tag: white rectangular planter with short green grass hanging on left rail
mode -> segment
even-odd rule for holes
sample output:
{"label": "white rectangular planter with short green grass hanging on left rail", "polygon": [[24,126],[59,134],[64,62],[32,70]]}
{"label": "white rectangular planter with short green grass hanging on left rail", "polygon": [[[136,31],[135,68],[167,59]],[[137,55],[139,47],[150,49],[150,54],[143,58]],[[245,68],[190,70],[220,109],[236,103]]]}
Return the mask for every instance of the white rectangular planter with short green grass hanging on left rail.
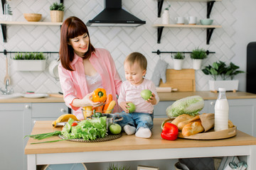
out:
{"label": "white rectangular planter with short green grass hanging on left rail", "polygon": [[42,52],[18,53],[12,60],[17,71],[43,71],[46,69],[46,57]]}

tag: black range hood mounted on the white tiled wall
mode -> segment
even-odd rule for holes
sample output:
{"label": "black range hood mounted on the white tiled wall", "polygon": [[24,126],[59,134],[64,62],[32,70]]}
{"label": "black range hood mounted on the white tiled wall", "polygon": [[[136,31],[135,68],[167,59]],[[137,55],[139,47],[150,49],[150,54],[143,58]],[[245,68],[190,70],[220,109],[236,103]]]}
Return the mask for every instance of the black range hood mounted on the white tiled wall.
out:
{"label": "black range hood mounted on the white tiled wall", "polygon": [[145,24],[131,13],[122,9],[122,0],[105,0],[105,9],[95,18],[87,21],[87,26],[129,26],[137,27]]}

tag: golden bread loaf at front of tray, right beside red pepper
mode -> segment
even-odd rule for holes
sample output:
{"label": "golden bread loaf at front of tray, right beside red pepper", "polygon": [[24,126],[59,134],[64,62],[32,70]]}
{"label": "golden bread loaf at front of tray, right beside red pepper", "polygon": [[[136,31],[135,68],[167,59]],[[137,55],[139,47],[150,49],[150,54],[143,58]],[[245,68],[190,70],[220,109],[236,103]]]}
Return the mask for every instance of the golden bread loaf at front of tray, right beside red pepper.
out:
{"label": "golden bread loaf at front of tray, right beside red pepper", "polygon": [[182,135],[184,137],[188,137],[191,135],[196,135],[199,132],[203,132],[203,126],[201,124],[201,120],[196,120],[191,123],[185,125],[182,129]]}

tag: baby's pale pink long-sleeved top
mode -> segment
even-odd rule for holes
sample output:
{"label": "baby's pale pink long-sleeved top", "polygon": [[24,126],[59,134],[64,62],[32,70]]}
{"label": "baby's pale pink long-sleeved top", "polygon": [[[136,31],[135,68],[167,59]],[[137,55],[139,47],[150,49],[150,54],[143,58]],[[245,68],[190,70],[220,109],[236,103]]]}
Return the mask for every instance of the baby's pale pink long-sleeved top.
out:
{"label": "baby's pale pink long-sleeved top", "polygon": [[122,101],[131,101],[136,106],[136,113],[153,113],[154,106],[151,103],[146,102],[142,96],[141,91],[149,89],[155,94],[156,104],[159,103],[159,96],[156,93],[156,86],[153,81],[144,79],[142,84],[134,86],[129,81],[124,81],[121,86],[118,103]]}

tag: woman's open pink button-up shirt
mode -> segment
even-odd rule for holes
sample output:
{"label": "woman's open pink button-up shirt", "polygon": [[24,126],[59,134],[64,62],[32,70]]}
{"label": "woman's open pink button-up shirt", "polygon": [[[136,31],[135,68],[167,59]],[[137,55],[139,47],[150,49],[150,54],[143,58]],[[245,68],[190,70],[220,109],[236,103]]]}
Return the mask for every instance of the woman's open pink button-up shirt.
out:
{"label": "woman's open pink button-up shirt", "polygon": [[[95,52],[92,52],[89,60],[102,78],[103,89],[106,90],[107,94],[112,94],[113,100],[117,102],[116,94],[119,95],[122,80],[119,77],[110,52],[102,48],[95,48]],[[81,108],[75,108],[70,104],[74,98],[82,99],[92,91],[88,91],[87,88],[82,57],[75,54],[71,67],[75,71],[70,72],[64,69],[61,63],[58,65],[60,85],[63,90],[65,104],[69,108],[73,108],[73,114],[78,119],[83,119]],[[116,112],[119,112],[119,106],[114,107],[114,113]]]}

